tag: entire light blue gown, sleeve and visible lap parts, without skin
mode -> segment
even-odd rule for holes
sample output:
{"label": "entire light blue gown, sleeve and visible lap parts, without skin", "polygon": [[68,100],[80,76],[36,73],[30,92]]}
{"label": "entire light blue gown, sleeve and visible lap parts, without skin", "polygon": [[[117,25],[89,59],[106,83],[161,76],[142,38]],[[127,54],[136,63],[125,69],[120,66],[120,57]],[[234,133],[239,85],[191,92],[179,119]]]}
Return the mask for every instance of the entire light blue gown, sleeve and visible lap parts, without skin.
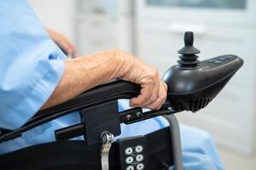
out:
{"label": "entire light blue gown, sleeve and visible lap parts, without skin", "polygon": [[[65,54],[44,30],[25,0],[0,2],[0,127],[16,129],[49,99],[65,68]],[[127,101],[119,101],[119,110]],[[35,127],[21,137],[0,144],[0,153],[55,139],[54,130],[79,122],[79,113]],[[146,134],[166,127],[162,117],[122,125],[121,137]],[[211,137],[194,127],[181,126],[185,169],[223,169]],[[171,167],[172,168],[172,167]]]}

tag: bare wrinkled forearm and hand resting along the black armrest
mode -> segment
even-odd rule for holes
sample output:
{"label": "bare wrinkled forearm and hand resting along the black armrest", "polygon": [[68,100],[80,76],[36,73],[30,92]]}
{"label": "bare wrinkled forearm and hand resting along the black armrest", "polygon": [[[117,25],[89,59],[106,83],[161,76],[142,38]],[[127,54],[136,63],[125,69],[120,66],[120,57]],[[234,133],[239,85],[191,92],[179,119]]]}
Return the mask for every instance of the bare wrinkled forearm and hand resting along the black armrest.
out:
{"label": "bare wrinkled forearm and hand resting along the black armrest", "polygon": [[167,86],[158,71],[132,54],[108,50],[66,61],[66,71],[42,109],[72,99],[115,78],[140,84],[140,94],[130,105],[157,110],[166,101]]}

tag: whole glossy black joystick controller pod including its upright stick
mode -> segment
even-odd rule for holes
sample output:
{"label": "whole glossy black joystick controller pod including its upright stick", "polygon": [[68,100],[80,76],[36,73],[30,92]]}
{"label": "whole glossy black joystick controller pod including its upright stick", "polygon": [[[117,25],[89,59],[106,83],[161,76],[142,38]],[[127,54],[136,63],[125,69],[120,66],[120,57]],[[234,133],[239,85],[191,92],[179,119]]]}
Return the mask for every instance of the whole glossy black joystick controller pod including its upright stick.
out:
{"label": "whole glossy black joystick controller pod including its upright stick", "polygon": [[216,97],[239,70],[242,59],[222,55],[199,61],[200,51],[193,46],[193,32],[184,34],[184,47],[178,50],[178,65],[166,71],[163,80],[168,86],[168,101],[175,111],[199,111]]}

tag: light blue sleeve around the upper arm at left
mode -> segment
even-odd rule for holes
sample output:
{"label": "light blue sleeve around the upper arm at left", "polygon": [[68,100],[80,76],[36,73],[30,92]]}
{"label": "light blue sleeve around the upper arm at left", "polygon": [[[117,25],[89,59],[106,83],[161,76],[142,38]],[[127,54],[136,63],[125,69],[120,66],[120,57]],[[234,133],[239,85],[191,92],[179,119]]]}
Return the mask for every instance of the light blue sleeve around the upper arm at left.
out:
{"label": "light blue sleeve around the upper arm at left", "polygon": [[20,127],[44,105],[65,59],[25,0],[1,0],[0,127]]}

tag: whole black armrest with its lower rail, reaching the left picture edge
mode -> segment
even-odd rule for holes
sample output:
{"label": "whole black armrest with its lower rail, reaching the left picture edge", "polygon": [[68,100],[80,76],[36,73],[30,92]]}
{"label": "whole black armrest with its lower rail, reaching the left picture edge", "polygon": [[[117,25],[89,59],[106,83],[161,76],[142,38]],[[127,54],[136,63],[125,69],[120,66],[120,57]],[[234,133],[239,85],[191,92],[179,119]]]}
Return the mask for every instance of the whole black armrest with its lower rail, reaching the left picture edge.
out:
{"label": "whole black armrest with its lower rail, reaching the left picture edge", "polygon": [[2,133],[3,135],[0,135],[0,143],[9,139],[14,139],[32,127],[37,127],[44,122],[49,122],[55,118],[65,116],[73,111],[80,111],[92,105],[99,105],[117,99],[131,99],[140,94],[140,89],[139,85],[122,80],[102,84],[101,86],[84,92],[84,94],[80,94],[74,99],[62,103],[61,105],[56,105],[44,111],[38,111],[38,113],[32,117],[29,122],[26,122],[23,127],[7,134]]}

